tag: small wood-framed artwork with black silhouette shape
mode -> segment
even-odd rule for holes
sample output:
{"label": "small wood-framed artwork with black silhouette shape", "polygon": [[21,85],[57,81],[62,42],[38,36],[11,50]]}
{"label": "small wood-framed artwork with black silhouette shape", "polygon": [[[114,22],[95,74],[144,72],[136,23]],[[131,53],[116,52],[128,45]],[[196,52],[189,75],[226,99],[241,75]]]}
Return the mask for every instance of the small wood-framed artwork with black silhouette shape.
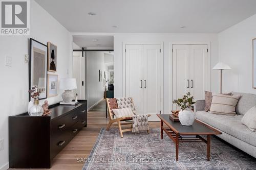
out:
{"label": "small wood-framed artwork with black silhouette shape", "polygon": [[47,43],[48,46],[48,71],[57,71],[57,46],[51,42]]}

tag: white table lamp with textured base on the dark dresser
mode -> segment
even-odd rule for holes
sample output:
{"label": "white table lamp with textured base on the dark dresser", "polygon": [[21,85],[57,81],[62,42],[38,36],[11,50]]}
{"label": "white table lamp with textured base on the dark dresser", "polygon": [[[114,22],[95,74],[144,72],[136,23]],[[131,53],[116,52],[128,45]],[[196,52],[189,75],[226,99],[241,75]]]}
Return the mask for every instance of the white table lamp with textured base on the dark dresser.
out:
{"label": "white table lamp with textured base on the dark dresser", "polygon": [[62,94],[63,102],[60,102],[60,104],[74,104],[72,103],[72,100],[74,99],[75,95],[72,92],[71,89],[76,89],[76,79],[74,78],[65,78],[60,79],[59,81],[59,88],[60,89],[66,89]]}

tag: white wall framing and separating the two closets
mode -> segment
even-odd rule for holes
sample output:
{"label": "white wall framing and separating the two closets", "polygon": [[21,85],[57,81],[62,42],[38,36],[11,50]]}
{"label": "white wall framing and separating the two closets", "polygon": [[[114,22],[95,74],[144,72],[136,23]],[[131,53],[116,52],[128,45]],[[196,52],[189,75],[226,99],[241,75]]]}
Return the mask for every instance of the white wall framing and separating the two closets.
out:
{"label": "white wall framing and separating the two closets", "polygon": [[[123,41],[164,42],[164,113],[172,108],[172,43],[210,43],[211,67],[218,62],[217,34],[114,34],[114,82],[115,97],[123,95]],[[211,90],[218,91],[218,73],[211,71]]]}

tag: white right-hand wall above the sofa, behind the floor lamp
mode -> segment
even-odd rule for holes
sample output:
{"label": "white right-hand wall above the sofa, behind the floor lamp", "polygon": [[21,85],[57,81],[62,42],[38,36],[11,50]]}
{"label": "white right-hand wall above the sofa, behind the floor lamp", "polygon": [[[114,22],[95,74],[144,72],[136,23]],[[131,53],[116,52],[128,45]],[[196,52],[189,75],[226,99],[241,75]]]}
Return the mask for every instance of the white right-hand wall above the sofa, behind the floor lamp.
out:
{"label": "white right-hand wall above the sofa, behind the floor lamp", "polygon": [[256,38],[256,15],[219,33],[219,59],[231,67],[222,73],[223,92],[256,93],[252,88],[253,38]]}

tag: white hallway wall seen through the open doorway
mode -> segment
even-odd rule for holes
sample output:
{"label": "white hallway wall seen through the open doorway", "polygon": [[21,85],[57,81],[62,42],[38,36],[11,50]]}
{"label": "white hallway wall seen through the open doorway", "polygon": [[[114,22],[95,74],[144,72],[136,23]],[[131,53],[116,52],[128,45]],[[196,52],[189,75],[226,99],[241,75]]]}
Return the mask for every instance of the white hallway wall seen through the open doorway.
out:
{"label": "white hallway wall seen through the open doorway", "polygon": [[[90,109],[100,100],[103,99],[104,87],[103,78],[104,71],[108,71],[108,67],[104,63],[104,52],[86,52],[87,65],[87,90],[88,90],[88,108]],[[99,70],[102,70],[102,81],[99,82]]]}

